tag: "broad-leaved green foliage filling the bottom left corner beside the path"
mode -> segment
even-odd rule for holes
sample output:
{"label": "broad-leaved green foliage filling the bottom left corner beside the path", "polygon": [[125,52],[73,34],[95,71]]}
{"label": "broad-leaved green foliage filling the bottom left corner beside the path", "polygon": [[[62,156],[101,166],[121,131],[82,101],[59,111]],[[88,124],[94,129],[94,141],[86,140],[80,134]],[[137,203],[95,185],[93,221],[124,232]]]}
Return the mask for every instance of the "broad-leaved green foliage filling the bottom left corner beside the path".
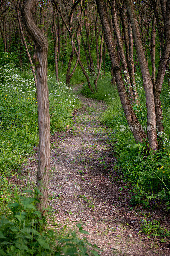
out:
{"label": "broad-leaved green foliage filling the bottom left corner beside the path", "polygon": [[38,194],[40,192],[35,188],[34,191],[24,191],[22,195],[9,194],[7,200],[1,201],[0,209],[2,213],[3,207],[4,215],[0,218],[0,255],[98,255],[100,249],[96,244],[93,246],[85,237],[79,238],[75,230],[78,228],[79,233],[89,234],[83,229],[81,220],[72,228],[67,225],[58,231],[50,228],[36,209]]}

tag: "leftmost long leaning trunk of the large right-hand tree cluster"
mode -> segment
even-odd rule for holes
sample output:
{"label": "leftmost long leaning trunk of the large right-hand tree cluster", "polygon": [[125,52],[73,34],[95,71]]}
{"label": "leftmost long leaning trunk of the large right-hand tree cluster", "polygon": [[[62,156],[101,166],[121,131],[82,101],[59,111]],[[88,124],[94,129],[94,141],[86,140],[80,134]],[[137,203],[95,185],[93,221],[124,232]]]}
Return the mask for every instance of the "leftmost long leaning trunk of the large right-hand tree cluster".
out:
{"label": "leftmost long leaning trunk of the large right-hand tree cluster", "polygon": [[[105,38],[105,42],[107,44],[107,48],[109,51],[109,56],[111,59],[111,63],[112,63],[112,67],[113,67],[113,71],[114,71],[114,75],[115,75],[115,80],[116,80],[116,85],[118,88],[118,93],[119,93],[120,101],[122,104],[122,108],[124,110],[124,113],[125,113],[125,116],[126,116],[129,126],[132,127],[131,130],[134,135],[135,141],[143,142],[143,139],[146,140],[147,136],[146,136],[145,132],[143,131],[143,129],[135,115],[135,112],[130,104],[130,101],[128,99],[128,94],[127,94],[127,91],[126,91],[126,88],[125,88],[125,85],[123,82],[121,70],[120,70],[120,65],[117,61],[118,58],[116,57],[117,53],[115,50],[115,45],[114,45],[110,25],[109,25],[109,22],[107,19],[104,2],[103,2],[103,0],[96,0],[96,4],[97,4],[97,10],[98,10],[98,13],[100,16],[100,20],[102,23],[102,28],[104,31],[104,38]],[[135,126],[138,127],[138,129],[135,129]]]}

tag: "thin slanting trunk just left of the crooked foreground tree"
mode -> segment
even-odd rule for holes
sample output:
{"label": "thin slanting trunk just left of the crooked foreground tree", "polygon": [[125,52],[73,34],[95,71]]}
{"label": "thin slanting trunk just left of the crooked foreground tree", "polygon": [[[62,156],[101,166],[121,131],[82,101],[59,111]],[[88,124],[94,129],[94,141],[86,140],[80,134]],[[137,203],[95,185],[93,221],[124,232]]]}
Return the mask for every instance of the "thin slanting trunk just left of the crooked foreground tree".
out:
{"label": "thin slanting trunk just left of the crooked foreground tree", "polygon": [[15,7],[16,12],[17,12],[17,20],[18,20],[18,24],[19,24],[19,29],[20,29],[22,41],[24,43],[24,47],[25,47],[25,50],[27,52],[28,60],[29,60],[31,70],[32,70],[32,73],[33,73],[35,88],[36,88],[36,95],[37,95],[37,79],[36,79],[35,69],[34,69],[33,62],[31,60],[31,56],[30,56],[29,51],[28,51],[27,43],[26,43],[26,40],[25,40],[25,36],[24,36],[24,33],[23,33],[22,24],[21,24],[21,20],[20,20],[20,16],[19,16],[19,4],[20,4],[20,2],[21,2],[21,0],[18,0],[17,5]]}

